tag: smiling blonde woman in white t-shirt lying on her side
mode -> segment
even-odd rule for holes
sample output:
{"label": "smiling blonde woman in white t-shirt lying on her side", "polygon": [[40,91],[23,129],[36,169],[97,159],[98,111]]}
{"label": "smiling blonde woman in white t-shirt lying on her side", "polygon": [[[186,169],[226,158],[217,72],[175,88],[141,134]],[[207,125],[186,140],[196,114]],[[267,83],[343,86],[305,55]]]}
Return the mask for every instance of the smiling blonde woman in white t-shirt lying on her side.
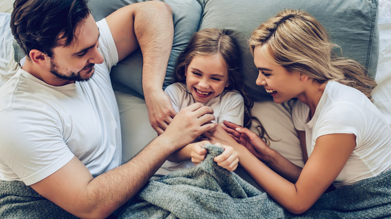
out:
{"label": "smiling blonde woman in white t-shirt lying on her side", "polygon": [[356,61],[334,56],[334,46],[313,16],[292,9],[262,23],[250,38],[259,69],[256,83],[277,103],[299,100],[292,118],[302,145],[303,168],[239,125],[224,122],[229,133],[218,127],[205,135],[212,142],[233,146],[241,166],[292,213],[310,209],[331,184],[336,190],[313,208],[331,206],[340,209],[334,216],[347,216],[343,213],[360,205],[360,193],[366,192],[369,195],[359,209],[375,206],[378,210],[373,213],[389,213],[389,208],[381,207],[391,202],[391,128],[370,101],[374,80]]}

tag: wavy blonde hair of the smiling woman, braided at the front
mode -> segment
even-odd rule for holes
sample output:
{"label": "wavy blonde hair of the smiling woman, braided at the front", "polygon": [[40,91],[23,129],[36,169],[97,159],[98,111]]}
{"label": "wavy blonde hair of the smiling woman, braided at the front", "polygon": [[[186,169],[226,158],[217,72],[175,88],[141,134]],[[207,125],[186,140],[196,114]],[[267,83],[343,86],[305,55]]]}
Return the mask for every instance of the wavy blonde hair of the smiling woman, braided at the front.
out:
{"label": "wavy blonde hair of the smiling woman, braided at the front", "polygon": [[336,56],[332,49],[339,46],[331,43],[322,24],[303,10],[279,12],[253,31],[249,44],[253,54],[258,47],[270,61],[290,72],[302,73],[319,83],[335,80],[371,99],[376,82],[366,76],[364,66]]}

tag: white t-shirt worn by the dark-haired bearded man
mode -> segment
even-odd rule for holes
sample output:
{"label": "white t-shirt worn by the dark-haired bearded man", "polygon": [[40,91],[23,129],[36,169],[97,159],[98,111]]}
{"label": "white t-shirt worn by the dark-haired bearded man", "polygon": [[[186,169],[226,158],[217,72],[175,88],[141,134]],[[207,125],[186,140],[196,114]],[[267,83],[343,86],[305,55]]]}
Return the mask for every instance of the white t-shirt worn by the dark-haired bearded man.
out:
{"label": "white t-shirt worn by the dark-haired bearded man", "polygon": [[109,72],[118,54],[106,20],[89,81],[51,86],[22,68],[0,88],[0,179],[38,182],[75,155],[95,177],[120,164],[118,106]]}

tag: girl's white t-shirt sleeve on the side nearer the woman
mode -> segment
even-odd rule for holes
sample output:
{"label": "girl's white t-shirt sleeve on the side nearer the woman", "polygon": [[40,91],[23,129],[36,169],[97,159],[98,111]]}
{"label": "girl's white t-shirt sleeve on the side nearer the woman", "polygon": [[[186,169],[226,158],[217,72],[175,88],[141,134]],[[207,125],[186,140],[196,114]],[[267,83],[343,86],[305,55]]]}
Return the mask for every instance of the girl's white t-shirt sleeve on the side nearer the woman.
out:
{"label": "girl's white t-shirt sleeve on the side nearer the woman", "polygon": [[218,122],[230,121],[243,126],[244,100],[237,92],[228,92],[221,103],[221,113]]}

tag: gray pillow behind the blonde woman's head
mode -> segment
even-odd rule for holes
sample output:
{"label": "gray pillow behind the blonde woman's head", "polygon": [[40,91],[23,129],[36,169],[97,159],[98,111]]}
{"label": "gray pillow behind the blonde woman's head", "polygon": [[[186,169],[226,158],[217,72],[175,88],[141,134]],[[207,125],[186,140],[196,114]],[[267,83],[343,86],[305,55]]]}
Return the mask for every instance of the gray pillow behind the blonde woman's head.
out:
{"label": "gray pillow behind the blonde woman's head", "polygon": [[258,70],[247,40],[253,29],[287,8],[304,9],[315,16],[329,31],[331,40],[341,46],[343,56],[360,62],[371,77],[375,76],[379,49],[377,0],[204,0],[203,4],[200,29],[236,31],[243,52],[246,89],[254,100],[269,99],[270,95],[255,84]]}

